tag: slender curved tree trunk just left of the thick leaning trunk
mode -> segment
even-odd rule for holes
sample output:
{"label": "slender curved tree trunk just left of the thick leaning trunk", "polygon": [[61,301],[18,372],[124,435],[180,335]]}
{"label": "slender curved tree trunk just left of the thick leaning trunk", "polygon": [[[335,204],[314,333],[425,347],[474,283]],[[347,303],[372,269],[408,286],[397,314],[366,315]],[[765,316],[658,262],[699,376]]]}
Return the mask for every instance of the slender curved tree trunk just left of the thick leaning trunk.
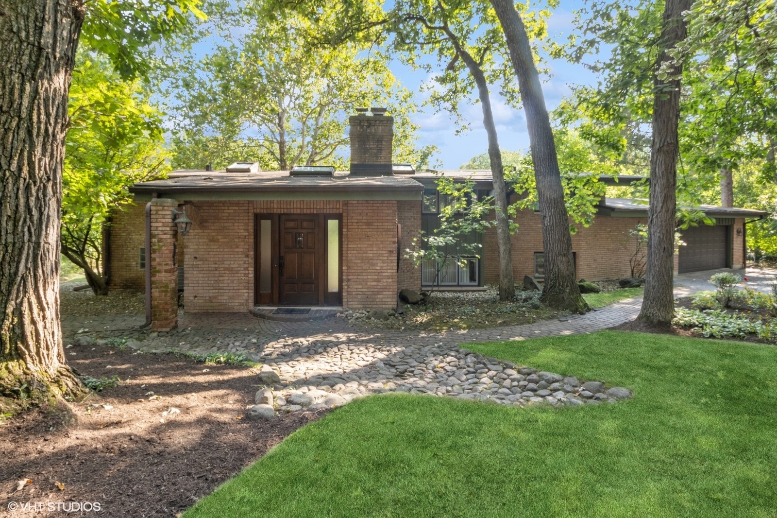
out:
{"label": "slender curved tree trunk just left of the thick leaning trunk", "polygon": [[472,55],[469,54],[456,39],[455,35],[445,25],[445,32],[456,48],[457,54],[462,58],[475,84],[478,87],[480,105],[483,107],[483,127],[488,135],[488,156],[491,165],[493,183],[493,198],[496,206],[497,218],[497,248],[499,249],[499,299],[512,300],[515,296],[515,282],[513,278],[513,254],[510,246],[510,221],[507,219],[507,186],[504,184],[504,171],[502,166],[502,152],[499,149],[497,139],[497,124],[494,124],[491,111],[491,98],[488,91],[488,83],[483,70]]}

